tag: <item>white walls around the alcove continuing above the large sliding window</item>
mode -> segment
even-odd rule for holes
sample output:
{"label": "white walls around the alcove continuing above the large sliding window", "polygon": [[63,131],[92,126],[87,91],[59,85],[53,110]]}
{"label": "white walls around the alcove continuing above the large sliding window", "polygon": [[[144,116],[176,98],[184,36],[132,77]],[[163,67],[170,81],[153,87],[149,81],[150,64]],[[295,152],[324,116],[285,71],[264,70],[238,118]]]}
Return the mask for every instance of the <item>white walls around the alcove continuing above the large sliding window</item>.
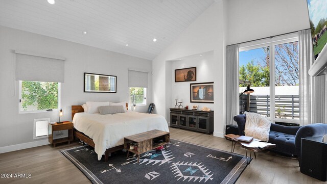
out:
{"label": "white walls around the alcove continuing above the large sliding window", "polygon": [[225,82],[226,45],[307,28],[310,27],[306,0],[217,0],[153,60],[156,112],[169,121],[174,96],[169,75],[172,63],[167,61],[213,50],[214,136],[223,137],[228,85]]}

